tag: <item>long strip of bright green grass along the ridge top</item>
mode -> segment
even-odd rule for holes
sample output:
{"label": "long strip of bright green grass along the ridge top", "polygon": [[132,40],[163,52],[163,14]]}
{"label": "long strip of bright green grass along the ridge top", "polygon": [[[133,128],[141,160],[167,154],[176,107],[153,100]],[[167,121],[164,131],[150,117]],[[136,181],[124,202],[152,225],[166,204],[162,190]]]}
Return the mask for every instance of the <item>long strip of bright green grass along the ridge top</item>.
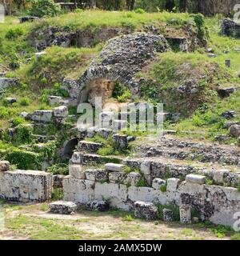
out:
{"label": "long strip of bright green grass along the ridge top", "polygon": [[65,27],[71,30],[98,26],[137,27],[150,22],[169,22],[172,19],[178,19],[178,23],[182,24],[193,21],[189,14],[173,14],[168,12],[136,14],[125,11],[86,10],[80,14],[69,13],[54,18],[42,19],[39,22],[34,22],[33,27],[37,30],[48,26]]}

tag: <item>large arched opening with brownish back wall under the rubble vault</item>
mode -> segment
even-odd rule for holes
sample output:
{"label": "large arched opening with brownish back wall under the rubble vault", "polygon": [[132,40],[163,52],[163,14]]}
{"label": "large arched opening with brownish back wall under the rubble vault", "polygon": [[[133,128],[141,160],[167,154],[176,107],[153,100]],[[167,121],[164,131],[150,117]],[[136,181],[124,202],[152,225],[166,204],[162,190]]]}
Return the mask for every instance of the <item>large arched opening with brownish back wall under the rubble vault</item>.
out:
{"label": "large arched opening with brownish back wall under the rubble vault", "polygon": [[112,97],[114,87],[114,81],[106,78],[94,79],[82,90],[80,102],[89,102],[92,106],[95,106],[95,98],[102,97],[102,106],[104,106],[107,99]]}

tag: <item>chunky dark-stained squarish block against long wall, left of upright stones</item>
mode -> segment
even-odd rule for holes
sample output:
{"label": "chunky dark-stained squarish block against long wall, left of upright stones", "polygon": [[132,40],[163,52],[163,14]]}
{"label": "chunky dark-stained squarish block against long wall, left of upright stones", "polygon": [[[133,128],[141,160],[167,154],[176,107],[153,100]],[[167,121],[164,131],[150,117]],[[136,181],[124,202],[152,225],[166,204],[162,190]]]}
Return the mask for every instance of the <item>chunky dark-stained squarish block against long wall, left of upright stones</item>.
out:
{"label": "chunky dark-stained squarish block against long wall, left of upright stones", "polygon": [[154,220],[157,218],[158,208],[151,202],[134,202],[134,216],[136,218],[145,218]]}

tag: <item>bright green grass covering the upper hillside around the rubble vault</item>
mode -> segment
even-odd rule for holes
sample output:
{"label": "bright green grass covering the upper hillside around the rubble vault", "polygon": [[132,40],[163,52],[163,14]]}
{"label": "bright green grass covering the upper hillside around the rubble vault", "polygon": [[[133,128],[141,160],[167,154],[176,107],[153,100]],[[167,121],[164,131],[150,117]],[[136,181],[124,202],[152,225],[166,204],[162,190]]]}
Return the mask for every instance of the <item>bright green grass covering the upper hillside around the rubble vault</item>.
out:
{"label": "bright green grass covering the upper hillside around the rubble vault", "polygon": [[[177,20],[177,22],[170,22]],[[47,26],[60,26],[62,28],[70,28],[70,30],[78,30],[86,27],[99,26],[122,26],[122,27],[141,27],[143,24],[166,22],[172,23],[171,26],[181,26],[192,22],[189,14],[170,14],[167,12],[161,14],[135,14],[130,12],[106,12],[106,11],[85,11],[80,14],[63,14],[56,18],[42,19],[40,22],[18,24],[16,18],[6,18],[6,23],[0,26],[1,37],[1,66],[8,66],[12,59],[17,58],[17,62],[22,63],[20,69],[10,70],[8,76],[16,76],[21,78],[21,85],[17,90],[9,90],[4,94],[6,96],[14,96],[18,98],[18,103],[14,106],[0,107],[0,126],[9,126],[8,120],[16,118],[22,111],[31,112],[37,109],[47,109],[46,101],[42,102],[42,93],[46,94],[46,89],[52,88],[55,83],[60,82],[61,76],[76,78],[82,74],[95,54],[101,50],[101,45],[95,48],[61,48],[52,46],[48,49],[47,55],[42,56],[38,62],[34,58],[34,49],[31,48],[26,36],[31,30],[42,30]],[[209,46],[213,48],[218,55],[217,58],[210,59],[206,57],[204,50],[200,49],[194,53],[168,53],[160,56],[159,62],[150,70],[150,76],[154,76],[163,86],[178,86],[179,76],[174,77],[174,68],[185,62],[189,62],[194,66],[194,72],[206,70],[207,65],[214,66],[214,62],[218,63],[218,72],[213,75],[214,82],[206,83],[206,89],[202,101],[208,101],[209,104],[205,108],[205,113],[196,111],[193,118],[187,118],[178,123],[174,128],[177,130],[206,130],[207,138],[213,138],[214,134],[226,133],[222,129],[222,118],[219,117],[222,111],[232,109],[239,111],[239,93],[233,94],[230,98],[221,100],[216,96],[213,86],[216,82],[221,82],[222,86],[238,84],[239,79],[234,78],[240,70],[239,53],[234,52],[234,48],[240,48],[239,40],[234,38],[226,38],[219,36],[218,18],[207,19],[207,26],[210,28]],[[174,24],[174,25],[173,25]],[[22,35],[18,38],[7,39],[6,33],[10,29],[20,28]],[[230,50],[230,53],[223,54],[223,50]],[[204,54],[203,54],[204,53]],[[29,59],[31,58],[31,59]],[[224,61],[230,58],[232,66],[226,70]],[[140,74],[142,75],[142,74]],[[191,74],[188,74],[189,78]],[[46,78],[46,79],[42,79]],[[183,75],[180,79],[184,80]],[[212,92],[210,94],[210,92]],[[3,98],[3,97],[2,97]],[[21,99],[28,98],[28,106],[21,105]],[[174,101],[174,98],[173,98]],[[2,102],[2,101],[1,101]],[[171,126],[169,126],[171,128]]]}

